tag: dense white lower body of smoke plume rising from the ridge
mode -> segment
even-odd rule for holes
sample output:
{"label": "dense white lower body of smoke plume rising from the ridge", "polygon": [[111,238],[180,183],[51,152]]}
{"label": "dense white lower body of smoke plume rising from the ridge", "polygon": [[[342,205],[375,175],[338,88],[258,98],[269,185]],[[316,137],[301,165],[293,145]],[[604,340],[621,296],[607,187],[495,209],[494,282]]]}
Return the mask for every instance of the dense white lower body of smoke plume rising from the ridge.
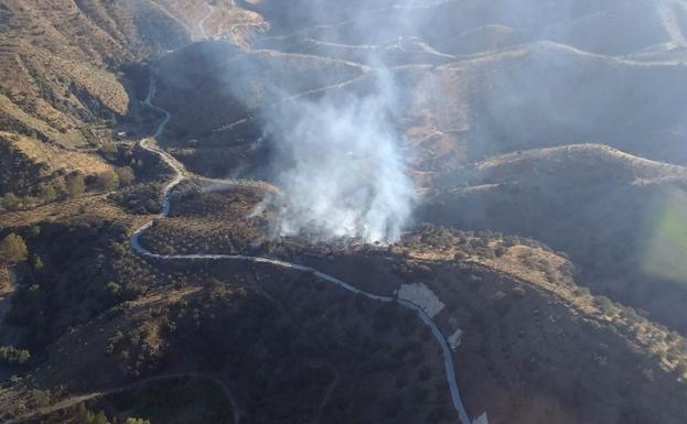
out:
{"label": "dense white lower body of smoke plume rising from the ridge", "polygon": [[394,90],[382,74],[376,93],[288,101],[272,117],[276,180],[285,194],[280,236],[400,237],[414,191],[390,123]]}

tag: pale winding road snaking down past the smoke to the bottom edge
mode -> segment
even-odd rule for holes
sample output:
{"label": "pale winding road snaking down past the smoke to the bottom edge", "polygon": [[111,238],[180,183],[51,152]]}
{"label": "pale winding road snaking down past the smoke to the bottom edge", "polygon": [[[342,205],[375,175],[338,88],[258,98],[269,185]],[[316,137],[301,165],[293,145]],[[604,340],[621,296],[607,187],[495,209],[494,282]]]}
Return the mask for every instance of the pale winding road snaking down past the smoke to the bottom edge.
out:
{"label": "pale winding road snaking down past the smoke to the bottom edge", "polygon": [[[149,96],[146,99],[146,104],[155,108],[159,111],[162,111],[164,113],[164,120],[162,121],[162,123],[160,123],[160,127],[158,128],[158,131],[155,132],[155,134],[153,135],[153,138],[159,137],[162,131],[164,131],[164,127],[167,126],[167,123],[170,121],[171,119],[171,115],[162,109],[159,108],[157,106],[152,105],[152,97],[154,95],[154,81],[151,81],[151,86],[150,86],[150,93]],[[169,216],[170,213],[170,208],[171,208],[171,193],[173,191],[173,188],[181,183],[184,178],[185,178],[185,170],[183,167],[182,164],[180,164],[178,161],[175,161],[173,157],[171,157],[167,152],[160,150],[160,149],[155,149],[149,145],[149,139],[144,139],[141,140],[140,142],[140,146],[142,149],[146,149],[152,153],[155,153],[158,155],[160,155],[160,157],[174,171],[175,176],[174,178],[164,187],[163,192],[162,192],[162,213],[160,214],[160,218],[167,218]],[[228,181],[230,182],[230,181]],[[429,317],[429,315],[427,315],[427,313],[422,309],[421,306],[411,303],[409,301],[406,300],[401,300],[398,297],[391,297],[391,296],[385,296],[385,295],[379,295],[379,294],[374,294],[374,293],[369,293],[366,292],[364,290],[357,289],[342,280],[336,279],[335,276],[325,274],[324,272],[321,272],[319,270],[315,270],[313,268],[310,267],[304,267],[304,265],[300,265],[297,263],[290,263],[290,262],[286,262],[286,261],[280,261],[277,259],[270,259],[270,258],[260,258],[260,257],[247,257],[247,256],[243,256],[243,254],[216,254],[216,253],[195,253],[195,254],[160,254],[160,253],[154,253],[151,252],[150,250],[146,249],[143,246],[141,246],[140,243],[140,238],[142,236],[143,232],[146,232],[151,226],[153,225],[153,221],[149,221],[147,224],[144,224],[141,228],[139,228],[138,230],[136,230],[133,232],[133,235],[131,236],[130,242],[131,242],[131,248],[138,252],[141,256],[144,257],[149,257],[149,258],[154,258],[154,259],[160,259],[160,260],[233,260],[233,261],[249,261],[249,262],[255,262],[255,263],[269,263],[276,267],[281,267],[281,268],[286,268],[286,269],[291,269],[291,270],[298,270],[298,271],[303,271],[303,272],[311,272],[314,275],[316,275],[318,278],[324,280],[324,281],[329,281],[330,283],[333,283],[344,290],[347,290],[350,292],[353,292],[355,294],[359,294],[363,295],[367,298],[371,298],[373,301],[379,301],[379,302],[397,302],[399,305],[407,307],[411,311],[414,311],[422,320],[422,323],[425,323],[425,325],[427,325],[434,338],[437,339],[437,343],[439,343],[440,347],[441,347],[441,351],[443,354],[443,362],[444,362],[444,371],[446,371],[446,377],[447,377],[447,381],[449,383],[449,388],[450,388],[450,392],[451,392],[451,399],[453,401],[453,406],[458,413],[458,416],[461,421],[462,424],[470,424],[470,417],[468,415],[468,412],[465,411],[465,407],[463,405],[463,402],[461,400],[460,396],[460,391],[458,388],[458,381],[455,380],[455,370],[453,368],[453,356],[451,352],[451,349],[449,348],[449,345],[447,343],[446,337],[443,336],[443,334],[441,333],[441,330],[439,329],[439,327],[434,324],[434,322]]]}

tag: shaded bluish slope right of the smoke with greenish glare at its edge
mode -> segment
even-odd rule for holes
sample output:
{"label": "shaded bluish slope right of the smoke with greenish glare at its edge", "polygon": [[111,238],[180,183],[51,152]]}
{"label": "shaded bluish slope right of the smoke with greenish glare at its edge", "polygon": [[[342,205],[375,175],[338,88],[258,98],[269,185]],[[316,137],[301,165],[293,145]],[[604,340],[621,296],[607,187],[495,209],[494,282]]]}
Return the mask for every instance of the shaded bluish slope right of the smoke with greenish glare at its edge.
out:
{"label": "shaded bluish slope right of the smoke with greenish glare at its edge", "polygon": [[608,146],[533,150],[448,175],[420,215],[536,237],[569,253],[594,292],[685,333],[686,184],[681,166]]}

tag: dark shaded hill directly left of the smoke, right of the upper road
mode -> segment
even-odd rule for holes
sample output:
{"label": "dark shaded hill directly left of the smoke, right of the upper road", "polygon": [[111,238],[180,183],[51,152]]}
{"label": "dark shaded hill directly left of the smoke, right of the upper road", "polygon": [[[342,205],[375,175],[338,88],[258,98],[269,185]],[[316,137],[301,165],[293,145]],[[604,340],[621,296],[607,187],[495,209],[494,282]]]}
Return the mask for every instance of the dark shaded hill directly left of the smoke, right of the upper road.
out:
{"label": "dark shaded hill directly left of the smoke, right of the upper road", "polygon": [[241,52],[224,42],[191,45],[152,64],[155,104],[173,119],[164,146],[201,175],[265,175],[264,116],[285,99],[347,84],[367,72],[356,63],[277,51]]}

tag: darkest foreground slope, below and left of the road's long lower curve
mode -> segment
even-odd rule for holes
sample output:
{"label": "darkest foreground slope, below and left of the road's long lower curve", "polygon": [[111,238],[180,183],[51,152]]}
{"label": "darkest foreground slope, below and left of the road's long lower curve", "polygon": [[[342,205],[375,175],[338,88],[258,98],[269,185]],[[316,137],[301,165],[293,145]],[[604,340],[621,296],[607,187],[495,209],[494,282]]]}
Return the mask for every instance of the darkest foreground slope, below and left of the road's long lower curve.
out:
{"label": "darkest foreground slope, below and left of the road's long lower curve", "polygon": [[[321,402],[335,406],[324,411],[326,422],[396,422],[401,410],[415,422],[430,411],[411,404],[410,390],[389,390],[388,382],[411,381],[420,367],[428,378],[416,387],[440,411],[432,421],[452,422],[440,350],[421,341],[432,336],[411,312],[359,300],[309,275],[240,264],[227,273],[221,271],[224,264],[205,264],[219,272],[219,280],[150,292],[58,340],[49,349],[50,362],[33,374],[35,383],[71,381],[58,401],[131,379],[205,374],[227,381],[243,413],[256,423],[302,422],[316,415]],[[194,272],[189,265],[176,264]],[[323,302],[330,297],[333,302]],[[332,314],[339,318],[319,318]],[[374,327],[363,325],[367,319]],[[405,355],[412,360],[401,360]],[[63,365],[54,367],[53,360]],[[93,373],[96,369],[101,372]],[[93,378],[78,381],[74,374]],[[12,392],[3,392],[3,399]],[[15,412],[21,403],[3,403],[3,411]]]}

